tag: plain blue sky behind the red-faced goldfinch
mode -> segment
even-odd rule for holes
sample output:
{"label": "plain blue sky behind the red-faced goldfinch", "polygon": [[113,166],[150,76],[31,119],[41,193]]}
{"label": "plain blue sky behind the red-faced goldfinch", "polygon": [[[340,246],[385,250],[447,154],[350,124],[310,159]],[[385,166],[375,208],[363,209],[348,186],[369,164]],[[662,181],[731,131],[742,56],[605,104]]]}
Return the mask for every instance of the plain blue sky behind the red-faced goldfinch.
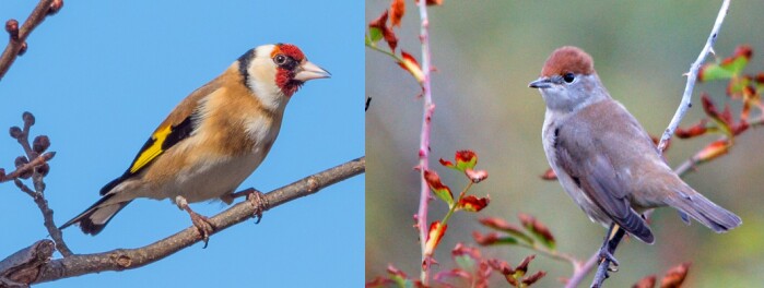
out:
{"label": "plain blue sky behind the red-faced goldfinch", "polygon": [[[2,1],[0,20],[21,22],[35,2]],[[50,136],[58,154],[46,192],[60,225],[124,172],[180,99],[247,49],[292,43],[332,79],[309,82],[294,96],[273,149],[242,185],[270,191],[364,154],[362,9],[363,1],[66,1],[0,81],[0,128],[21,125],[28,110],[37,117],[33,134]],[[21,154],[3,132],[0,167],[12,170]],[[364,179],[279,206],[259,225],[230,228],[205,250],[197,244],[146,267],[36,287],[357,287]],[[203,215],[224,208],[191,206]],[[10,182],[0,184],[0,257],[47,236],[36,205]],[[98,236],[74,227],[64,240],[75,253],[95,253],[142,247],[188,226],[169,201],[139,200]]]}

